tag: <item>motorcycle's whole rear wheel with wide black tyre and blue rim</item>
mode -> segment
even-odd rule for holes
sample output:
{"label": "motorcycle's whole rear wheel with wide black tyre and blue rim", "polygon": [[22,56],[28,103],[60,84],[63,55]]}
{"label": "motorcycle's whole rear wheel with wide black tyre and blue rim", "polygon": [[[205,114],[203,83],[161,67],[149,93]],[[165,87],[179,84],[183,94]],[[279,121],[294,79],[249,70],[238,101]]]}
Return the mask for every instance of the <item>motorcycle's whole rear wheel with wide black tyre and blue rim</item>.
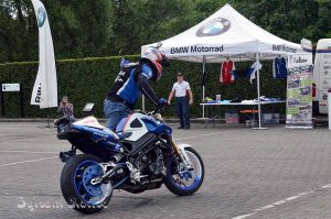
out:
{"label": "motorcycle's whole rear wheel with wide black tyre and blue rim", "polygon": [[103,210],[111,199],[111,183],[93,185],[90,180],[104,174],[102,160],[79,154],[67,161],[61,173],[61,191],[66,202],[82,213]]}

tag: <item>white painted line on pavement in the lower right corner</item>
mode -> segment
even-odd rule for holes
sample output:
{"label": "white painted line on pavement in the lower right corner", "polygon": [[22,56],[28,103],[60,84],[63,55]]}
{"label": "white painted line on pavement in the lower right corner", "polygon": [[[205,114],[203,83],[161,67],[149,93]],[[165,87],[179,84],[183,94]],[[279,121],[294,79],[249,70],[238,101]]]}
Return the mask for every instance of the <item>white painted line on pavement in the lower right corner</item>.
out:
{"label": "white painted line on pavement in the lower right corner", "polygon": [[300,193],[298,195],[295,195],[295,196],[291,196],[291,197],[288,197],[288,198],[285,198],[282,200],[278,200],[278,201],[275,201],[270,205],[266,205],[264,207],[260,207],[260,208],[256,208],[254,210],[252,210],[250,212],[248,213],[245,213],[245,215],[241,215],[241,216],[237,216],[237,217],[234,217],[233,219],[245,219],[245,218],[248,218],[250,216],[254,216],[256,215],[257,212],[260,212],[260,211],[264,211],[264,210],[267,210],[267,209],[270,209],[270,208],[275,208],[277,206],[280,206],[280,205],[284,205],[284,204],[287,204],[287,202],[290,202],[292,200],[296,200],[298,198],[302,198],[303,196],[308,196],[310,194],[313,194],[316,191],[320,191],[320,190],[324,190],[324,189],[328,189],[328,188],[331,188],[331,184],[327,184],[324,186],[321,186],[314,190],[309,190],[309,191],[305,191],[305,193]]}

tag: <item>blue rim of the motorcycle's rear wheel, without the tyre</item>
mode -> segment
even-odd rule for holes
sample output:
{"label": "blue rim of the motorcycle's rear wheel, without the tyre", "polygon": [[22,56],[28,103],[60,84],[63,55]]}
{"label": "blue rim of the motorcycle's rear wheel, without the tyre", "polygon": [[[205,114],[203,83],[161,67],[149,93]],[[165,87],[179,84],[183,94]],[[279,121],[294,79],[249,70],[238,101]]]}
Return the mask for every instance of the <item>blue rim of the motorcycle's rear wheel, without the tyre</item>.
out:
{"label": "blue rim of the motorcycle's rear wheel, without the tyre", "polygon": [[74,185],[81,199],[88,205],[99,205],[111,194],[111,184],[92,185],[90,179],[102,176],[103,167],[98,162],[86,160],[79,163],[74,174]]}

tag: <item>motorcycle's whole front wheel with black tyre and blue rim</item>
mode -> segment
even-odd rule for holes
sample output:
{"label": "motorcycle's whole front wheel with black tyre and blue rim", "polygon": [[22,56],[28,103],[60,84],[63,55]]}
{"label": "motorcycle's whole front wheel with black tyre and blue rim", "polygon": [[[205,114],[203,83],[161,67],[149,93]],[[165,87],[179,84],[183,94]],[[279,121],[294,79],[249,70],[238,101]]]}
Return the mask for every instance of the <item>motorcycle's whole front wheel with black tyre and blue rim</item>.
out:
{"label": "motorcycle's whole front wheel with black tyre and blue rim", "polygon": [[164,185],[178,196],[193,195],[202,185],[204,179],[204,165],[199,153],[192,147],[185,147],[185,152],[193,169],[185,169],[177,157],[168,161],[167,177]]}

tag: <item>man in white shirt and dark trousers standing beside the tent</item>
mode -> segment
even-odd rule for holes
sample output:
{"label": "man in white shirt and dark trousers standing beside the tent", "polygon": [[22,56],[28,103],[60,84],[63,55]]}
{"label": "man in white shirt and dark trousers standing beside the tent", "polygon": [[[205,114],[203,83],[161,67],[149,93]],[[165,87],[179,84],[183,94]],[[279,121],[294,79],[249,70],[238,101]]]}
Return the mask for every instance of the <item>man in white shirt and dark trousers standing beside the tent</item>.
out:
{"label": "man in white shirt and dark trousers standing beside the tent", "polygon": [[190,84],[184,80],[183,74],[178,73],[177,74],[177,83],[173,84],[172,90],[168,98],[168,103],[171,103],[171,99],[173,96],[177,100],[177,114],[180,119],[180,127],[179,129],[190,129],[190,112],[189,112],[189,105],[186,95],[190,96],[190,105],[193,105],[193,95],[190,87]]}

